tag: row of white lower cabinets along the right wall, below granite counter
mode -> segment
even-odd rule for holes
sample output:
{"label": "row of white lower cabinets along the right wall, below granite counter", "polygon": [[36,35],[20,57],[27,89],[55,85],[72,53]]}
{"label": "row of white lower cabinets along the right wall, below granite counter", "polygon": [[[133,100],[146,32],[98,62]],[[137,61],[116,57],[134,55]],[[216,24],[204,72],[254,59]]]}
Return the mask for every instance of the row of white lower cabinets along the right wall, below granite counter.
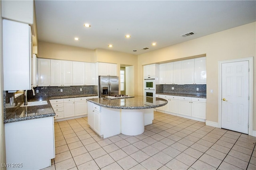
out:
{"label": "row of white lower cabinets along the right wall, below granite counter", "polygon": [[156,94],[156,97],[168,101],[165,106],[157,107],[157,110],[165,113],[174,113],[188,118],[206,119],[206,98],[192,98],[183,96],[169,96]]}

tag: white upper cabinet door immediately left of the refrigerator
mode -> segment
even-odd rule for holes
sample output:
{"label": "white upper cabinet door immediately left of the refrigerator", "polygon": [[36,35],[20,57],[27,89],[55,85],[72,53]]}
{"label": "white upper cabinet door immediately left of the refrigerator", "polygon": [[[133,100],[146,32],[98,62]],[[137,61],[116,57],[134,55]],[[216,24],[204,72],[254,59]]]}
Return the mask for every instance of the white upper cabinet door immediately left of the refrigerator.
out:
{"label": "white upper cabinet door immediately left of the refrigerator", "polygon": [[85,63],[85,85],[95,85],[95,63]]}

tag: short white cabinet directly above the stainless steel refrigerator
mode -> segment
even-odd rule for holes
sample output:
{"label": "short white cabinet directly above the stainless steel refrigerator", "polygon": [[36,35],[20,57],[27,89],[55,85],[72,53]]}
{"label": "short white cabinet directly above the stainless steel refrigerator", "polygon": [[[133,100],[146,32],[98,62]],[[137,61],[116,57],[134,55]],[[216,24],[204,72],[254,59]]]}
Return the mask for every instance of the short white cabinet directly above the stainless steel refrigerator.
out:
{"label": "short white cabinet directly above the stainless steel refrigerator", "polygon": [[117,64],[98,63],[99,76],[117,76]]}

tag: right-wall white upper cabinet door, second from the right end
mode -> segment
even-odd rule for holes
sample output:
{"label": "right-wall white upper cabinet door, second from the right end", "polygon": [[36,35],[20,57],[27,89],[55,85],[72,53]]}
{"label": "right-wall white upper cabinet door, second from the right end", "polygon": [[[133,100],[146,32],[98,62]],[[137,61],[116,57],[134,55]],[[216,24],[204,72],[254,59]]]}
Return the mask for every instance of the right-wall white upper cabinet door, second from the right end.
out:
{"label": "right-wall white upper cabinet door, second from the right end", "polygon": [[182,84],[194,84],[194,59],[182,61]]}

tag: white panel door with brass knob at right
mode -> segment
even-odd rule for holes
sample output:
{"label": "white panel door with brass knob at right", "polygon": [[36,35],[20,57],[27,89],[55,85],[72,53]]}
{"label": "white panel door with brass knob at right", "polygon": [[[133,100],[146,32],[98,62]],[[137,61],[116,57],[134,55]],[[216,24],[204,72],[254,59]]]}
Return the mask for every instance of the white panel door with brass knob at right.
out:
{"label": "white panel door with brass knob at right", "polygon": [[222,64],[221,127],[248,134],[248,61]]}

